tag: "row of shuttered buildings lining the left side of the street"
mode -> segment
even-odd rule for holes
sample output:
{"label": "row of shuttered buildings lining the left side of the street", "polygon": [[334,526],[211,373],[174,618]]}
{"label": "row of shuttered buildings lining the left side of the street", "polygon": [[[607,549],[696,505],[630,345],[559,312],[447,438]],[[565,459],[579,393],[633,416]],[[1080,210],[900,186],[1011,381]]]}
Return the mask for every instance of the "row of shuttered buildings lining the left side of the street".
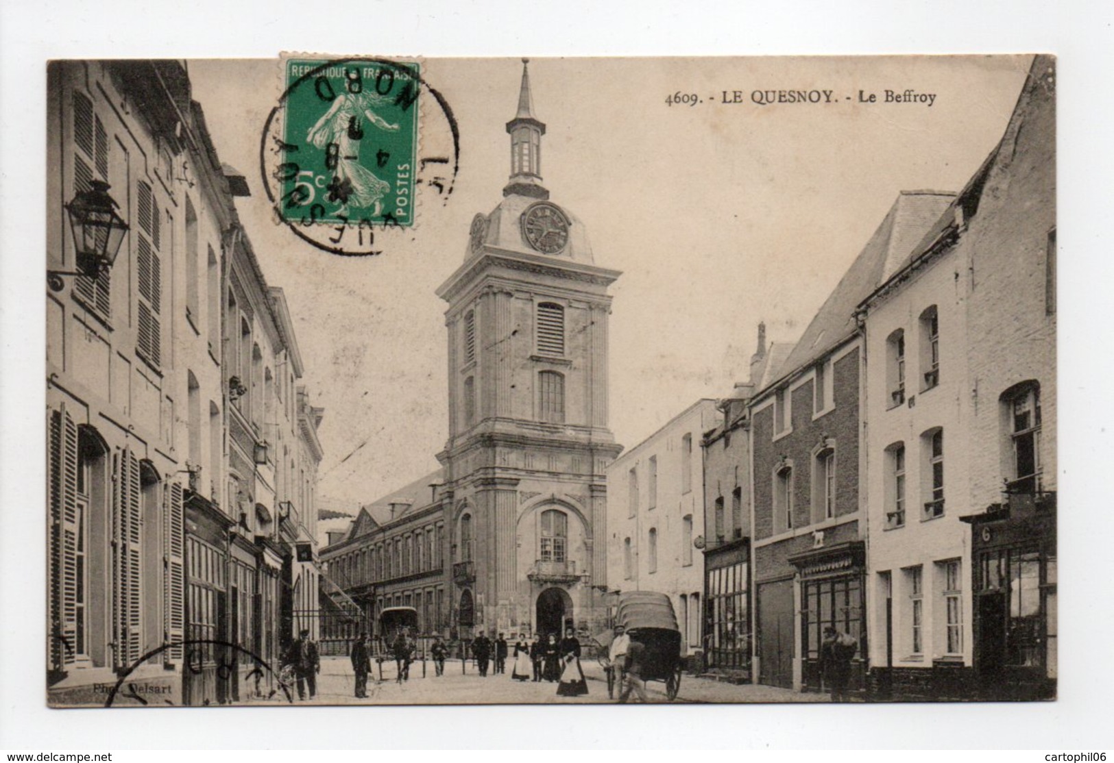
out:
{"label": "row of shuttered buildings lining the left side of the street", "polygon": [[[277,515],[274,475],[253,458],[229,480],[232,426],[274,420],[241,415],[248,387],[229,384],[247,186],[180,62],[53,63],[48,89],[49,701],[104,704],[127,677],[174,704],[233,702],[277,654],[283,564],[258,518]],[[67,217],[98,182],[127,230],[90,277]],[[253,437],[251,456],[271,435]]]}

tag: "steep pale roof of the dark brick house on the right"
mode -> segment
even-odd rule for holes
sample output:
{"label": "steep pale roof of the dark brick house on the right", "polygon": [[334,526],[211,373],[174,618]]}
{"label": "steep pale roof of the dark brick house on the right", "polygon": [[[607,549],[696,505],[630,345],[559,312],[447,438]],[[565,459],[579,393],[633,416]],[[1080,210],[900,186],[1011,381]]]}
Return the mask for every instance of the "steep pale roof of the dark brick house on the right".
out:
{"label": "steep pale roof of the dark brick house on the right", "polygon": [[813,363],[854,331],[856,307],[908,261],[917,244],[955,196],[932,190],[901,191],[898,195],[874,235],[851,262],[804,329],[783,368],[778,369],[771,380]]}

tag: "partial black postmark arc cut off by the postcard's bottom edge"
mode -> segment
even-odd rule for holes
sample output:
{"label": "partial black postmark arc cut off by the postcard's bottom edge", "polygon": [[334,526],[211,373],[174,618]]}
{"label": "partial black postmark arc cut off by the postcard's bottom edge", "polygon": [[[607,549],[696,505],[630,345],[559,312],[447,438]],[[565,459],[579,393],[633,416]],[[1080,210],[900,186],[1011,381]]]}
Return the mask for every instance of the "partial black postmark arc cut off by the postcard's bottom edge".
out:
{"label": "partial black postmark arc cut off by the postcard's bottom edge", "polygon": [[252,670],[243,676],[246,686],[252,687],[262,698],[278,696],[286,703],[293,704],[294,702],[292,678],[282,670],[274,671],[267,661],[251,650],[228,641],[192,638],[158,646],[131,663],[120,673],[115,684],[110,687],[106,686],[108,691],[105,707],[111,707],[118,697],[129,700],[129,704],[173,705],[174,702],[169,697],[162,696],[163,687],[152,686],[131,677],[138,667],[167,652],[182,658],[184,678],[187,673],[192,676],[201,676],[211,671],[217,681],[229,682],[235,675],[238,675],[241,665],[250,665]]}

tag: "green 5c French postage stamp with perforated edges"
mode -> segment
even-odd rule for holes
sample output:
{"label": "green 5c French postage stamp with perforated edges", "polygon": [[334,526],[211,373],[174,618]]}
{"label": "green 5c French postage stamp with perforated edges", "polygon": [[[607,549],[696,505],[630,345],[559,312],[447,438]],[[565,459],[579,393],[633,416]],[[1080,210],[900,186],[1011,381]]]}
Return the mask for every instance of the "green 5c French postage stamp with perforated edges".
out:
{"label": "green 5c French postage stamp with perforated edges", "polygon": [[284,76],[283,219],[412,227],[419,65],[287,59]]}

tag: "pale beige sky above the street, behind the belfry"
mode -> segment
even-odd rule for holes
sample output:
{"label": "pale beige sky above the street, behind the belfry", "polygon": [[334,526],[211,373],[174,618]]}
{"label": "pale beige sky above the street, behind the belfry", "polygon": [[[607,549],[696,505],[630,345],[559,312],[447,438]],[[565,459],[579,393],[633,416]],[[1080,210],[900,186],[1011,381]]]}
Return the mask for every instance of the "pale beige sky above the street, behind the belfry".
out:
{"label": "pale beige sky above the street, behind the belfry", "polygon": [[[959,190],[998,142],[1029,57],[551,58],[531,60],[551,200],[585,224],[612,287],[610,427],[637,445],[747,374],[756,325],[793,341],[898,192]],[[277,60],[193,60],[223,162],[247,178],[237,208],[267,281],[286,295],[306,384],[324,407],[321,505],[363,503],[436,469],[448,434],[446,304],[471,218],[501,200],[505,123],[519,59],[428,59],[459,125],[448,200],[420,191],[418,224],[377,257],[324,252],[276,225],[260,172]],[[885,102],[886,91],[932,93]],[[754,90],[828,90],[769,103]],[[740,92],[734,102],[735,91]],[[874,103],[861,102],[876,93]],[[695,106],[667,105],[696,93]],[[821,96],[821,99],[823,97]],[[723,101],[731,101],[724,103]],[[423,146],[443,115],[421,102]]]}

